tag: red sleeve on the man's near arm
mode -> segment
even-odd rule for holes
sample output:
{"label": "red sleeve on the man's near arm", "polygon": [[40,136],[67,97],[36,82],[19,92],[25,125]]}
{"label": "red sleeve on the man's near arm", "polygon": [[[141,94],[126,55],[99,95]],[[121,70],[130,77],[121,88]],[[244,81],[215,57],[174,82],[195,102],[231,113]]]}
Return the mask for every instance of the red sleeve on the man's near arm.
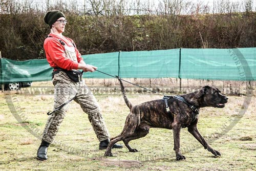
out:
{"label": "red sleeve on the man's near arm", "polygon": [[46,52],[47,60],[51,67],[59,67],[66,70],[77,70],[78,63],[69,58],[66,58],[64,52],[65,49],[57,39],[47,38],[45,40],[44,49]]}

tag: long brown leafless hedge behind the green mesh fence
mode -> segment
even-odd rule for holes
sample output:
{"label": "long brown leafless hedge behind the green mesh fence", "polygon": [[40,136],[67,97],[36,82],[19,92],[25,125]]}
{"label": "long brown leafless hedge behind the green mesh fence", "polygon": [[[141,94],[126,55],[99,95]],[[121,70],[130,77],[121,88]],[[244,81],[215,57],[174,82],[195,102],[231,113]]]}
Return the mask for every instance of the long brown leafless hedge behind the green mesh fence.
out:
{"label": "long brown leafless hedge behind the green mesh fence", "polygon": [[[256,47],[256,13],[197,15],[80,15],[64,10],[63,35],[81,54],[175,48]],[[50,33],[43,12],[0,14],[0,51],[15,59],[45,58]],[[207,44],[207,46],[206,46]]]}

